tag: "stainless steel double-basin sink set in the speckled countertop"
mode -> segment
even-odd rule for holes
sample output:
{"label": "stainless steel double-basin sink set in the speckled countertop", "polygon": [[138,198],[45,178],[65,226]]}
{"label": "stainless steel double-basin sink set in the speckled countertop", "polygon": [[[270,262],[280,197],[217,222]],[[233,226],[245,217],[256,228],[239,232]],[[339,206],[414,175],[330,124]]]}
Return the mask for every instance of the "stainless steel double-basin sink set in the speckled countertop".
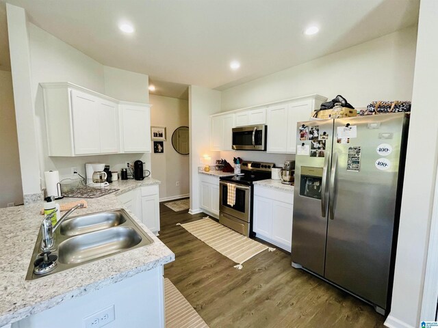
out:
{"label": "stainless steel double-basin sink set in the speckled countertop", "polygon": [[51,275],[151,243],[153,240],[123,208],[71,217],[55,231],[55,245],[51,251],[52,255],[57,256],[55,269],[42,275],[34,273],[34,262],[40,258],[41,252],[39,233],[26,280]]}

